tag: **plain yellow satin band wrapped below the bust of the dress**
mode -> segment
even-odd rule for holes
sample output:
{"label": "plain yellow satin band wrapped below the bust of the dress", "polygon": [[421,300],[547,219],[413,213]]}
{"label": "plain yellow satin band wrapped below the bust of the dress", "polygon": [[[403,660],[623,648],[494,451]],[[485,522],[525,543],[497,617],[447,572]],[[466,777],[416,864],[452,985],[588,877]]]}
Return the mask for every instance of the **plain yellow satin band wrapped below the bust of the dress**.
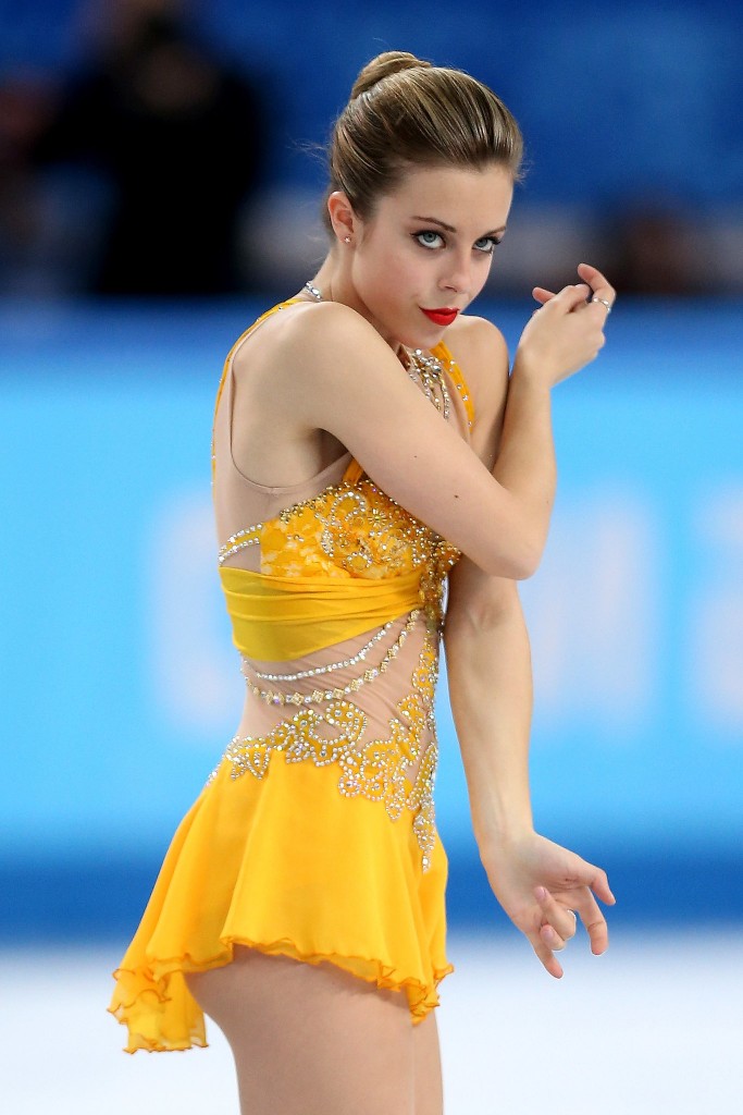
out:
{"label": "plain yellow satin band wrapped below the bust of the dress", "polygon": [[312,655],[420,604],[420,570],[372,581],[268,576],[223,566],[219,576],[235,646],[268,662]]}

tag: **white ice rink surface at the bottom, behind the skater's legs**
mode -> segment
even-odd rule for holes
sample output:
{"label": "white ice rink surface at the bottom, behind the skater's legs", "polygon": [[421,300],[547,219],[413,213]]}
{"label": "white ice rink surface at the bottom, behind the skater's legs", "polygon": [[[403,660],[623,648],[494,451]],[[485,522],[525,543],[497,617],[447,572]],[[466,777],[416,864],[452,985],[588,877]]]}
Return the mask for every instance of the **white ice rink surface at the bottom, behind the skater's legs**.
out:
{"label": "white ice rink surface at the bottom, behind the skater's legs", "polygon": [[[741,1111],[743,950],[733,931],[585,935],[548,977],[516,937],[450,938],[439,1011],[447,1115]],[[237,1115],[229,1051],[134,1057],[106,1014],[117,946],[0,953],[3,1115]],[[277,1113],[278,1115],[278,1113]]]}

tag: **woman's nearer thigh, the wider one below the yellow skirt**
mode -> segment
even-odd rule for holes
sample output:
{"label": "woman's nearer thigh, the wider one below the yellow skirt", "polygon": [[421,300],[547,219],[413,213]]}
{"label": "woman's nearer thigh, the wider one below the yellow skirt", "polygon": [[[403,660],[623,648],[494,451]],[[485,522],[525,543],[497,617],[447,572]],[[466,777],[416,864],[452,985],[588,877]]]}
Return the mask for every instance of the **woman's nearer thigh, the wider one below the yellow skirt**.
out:
{"label": "woman's nearer thigh, the wider one below the yellow skirt", "polygon": [[402,993],[238,947],[187,981],[229,1041],[242,1115],[418,1115]]}

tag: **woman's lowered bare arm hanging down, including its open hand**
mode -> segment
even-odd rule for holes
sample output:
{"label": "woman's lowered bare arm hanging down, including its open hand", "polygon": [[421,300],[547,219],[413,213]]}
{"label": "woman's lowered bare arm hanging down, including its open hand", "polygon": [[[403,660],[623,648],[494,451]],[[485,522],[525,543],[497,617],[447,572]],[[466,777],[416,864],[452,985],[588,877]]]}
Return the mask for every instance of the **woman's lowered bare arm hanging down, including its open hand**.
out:
{"label": "woman's lowered bare arm hanging down, including its open hand", "polygon": [[613,903],[605,873],[535,832],[529,798],[529,640],[516,584],[462,558],[450,574],[444,628],[447,673],[475,836],[492,891],[547,971],[575,934],[592,951],[608,943],[596,902]]}

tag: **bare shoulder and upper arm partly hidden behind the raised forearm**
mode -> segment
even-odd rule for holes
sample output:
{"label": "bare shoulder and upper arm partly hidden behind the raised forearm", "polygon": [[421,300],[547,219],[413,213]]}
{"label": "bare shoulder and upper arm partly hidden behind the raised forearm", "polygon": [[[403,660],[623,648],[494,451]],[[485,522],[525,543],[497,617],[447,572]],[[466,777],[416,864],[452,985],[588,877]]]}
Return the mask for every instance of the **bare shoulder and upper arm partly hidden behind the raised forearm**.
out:
{"label": "bare shoulder and upper arm partly hidden behind the raised forearm", "polygon": [[486,318],[463,314],[447,333],[447,346],[475,403],[473,448],[492,463],[508,392],[506,339]]}

